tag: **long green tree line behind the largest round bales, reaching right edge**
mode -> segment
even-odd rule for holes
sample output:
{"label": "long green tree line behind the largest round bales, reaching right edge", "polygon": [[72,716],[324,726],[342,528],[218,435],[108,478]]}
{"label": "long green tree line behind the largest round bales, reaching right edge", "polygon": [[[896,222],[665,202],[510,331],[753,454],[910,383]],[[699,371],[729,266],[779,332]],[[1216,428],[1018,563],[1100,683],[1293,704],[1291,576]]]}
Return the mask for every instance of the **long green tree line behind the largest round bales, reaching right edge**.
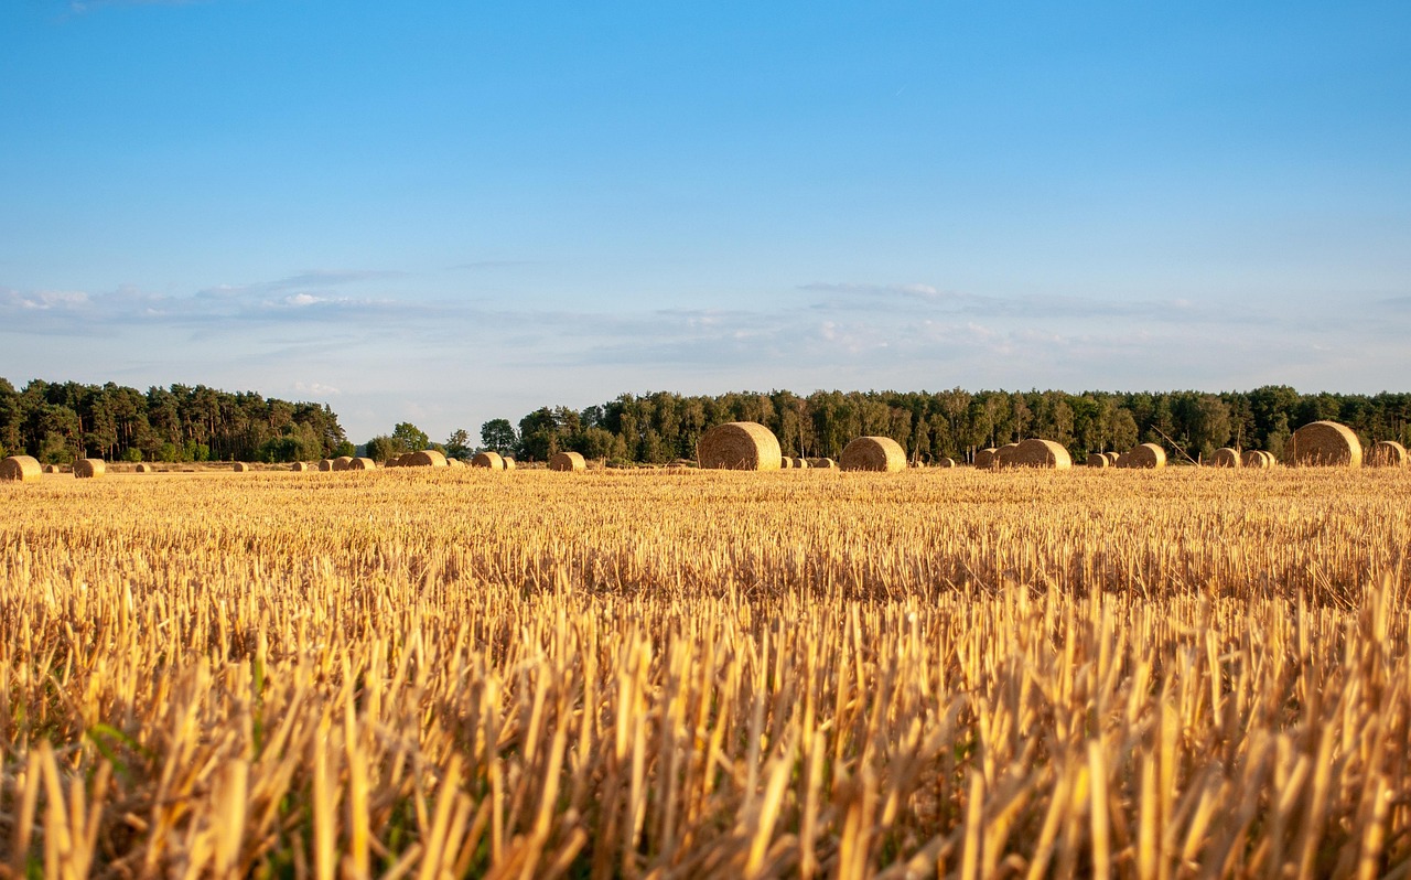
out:
{"label": "long green tree line behind the largest round bales, reaching right edge", "polygon": [[1288,386],[1252,391],[792,391],[682,396],[622,394],[577,411],[542,407],[515,427],[481,427],[490,449],[525,460],[555,452],[665,463],[696,458],[696,442],[728,421],[753,421],[779,438],[785,455],[837,458],[856,436],[885,435],[917,462],[971,460],[978,449],[1024,438],[1062,444],[1081,460],[1091,452],[1160,444],[1177,459],[1209,458],[1221,446],[1267,449],[1276,456],[1295,428],[1332,420],[1364,444],[1411,445],[1411,394],[1300,394]]}

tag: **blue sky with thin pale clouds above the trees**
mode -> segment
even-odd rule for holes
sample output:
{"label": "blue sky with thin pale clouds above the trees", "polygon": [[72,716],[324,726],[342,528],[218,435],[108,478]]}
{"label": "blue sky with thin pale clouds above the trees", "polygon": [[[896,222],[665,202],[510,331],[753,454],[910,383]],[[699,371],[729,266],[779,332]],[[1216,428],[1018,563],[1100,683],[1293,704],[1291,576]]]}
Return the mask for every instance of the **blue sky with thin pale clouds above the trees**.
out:
{"label": "blue sky with thin pale clouds above the trees", "polygon": [[1408,387],[1411,4],[10,0],[0,376]]}

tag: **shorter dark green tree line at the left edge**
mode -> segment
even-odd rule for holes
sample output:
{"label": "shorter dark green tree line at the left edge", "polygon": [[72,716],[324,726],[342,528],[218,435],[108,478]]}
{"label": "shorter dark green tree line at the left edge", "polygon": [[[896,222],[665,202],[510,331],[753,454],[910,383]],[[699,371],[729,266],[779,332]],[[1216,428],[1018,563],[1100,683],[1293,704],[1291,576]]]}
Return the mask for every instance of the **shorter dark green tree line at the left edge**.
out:
{"label": "shorter dark green tree line at the left edge", "polygon": [[293,462],[351,455],[326,404],[289,403],[206,386],[137,388],[106,383],[0,379],[0,455],[45,463],[75,458],[130,462]]}

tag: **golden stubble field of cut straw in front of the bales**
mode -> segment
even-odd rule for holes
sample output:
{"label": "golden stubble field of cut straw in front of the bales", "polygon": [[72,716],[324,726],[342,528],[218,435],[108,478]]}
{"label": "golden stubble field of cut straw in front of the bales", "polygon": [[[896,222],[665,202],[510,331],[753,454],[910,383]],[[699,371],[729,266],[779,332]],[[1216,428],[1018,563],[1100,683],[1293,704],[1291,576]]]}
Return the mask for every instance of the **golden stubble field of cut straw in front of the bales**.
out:
{"label": "golden stubble field of cut straw in front of the bales", "polygon": [[0,484],[0,876],[1411,876],[1411,472]]}

